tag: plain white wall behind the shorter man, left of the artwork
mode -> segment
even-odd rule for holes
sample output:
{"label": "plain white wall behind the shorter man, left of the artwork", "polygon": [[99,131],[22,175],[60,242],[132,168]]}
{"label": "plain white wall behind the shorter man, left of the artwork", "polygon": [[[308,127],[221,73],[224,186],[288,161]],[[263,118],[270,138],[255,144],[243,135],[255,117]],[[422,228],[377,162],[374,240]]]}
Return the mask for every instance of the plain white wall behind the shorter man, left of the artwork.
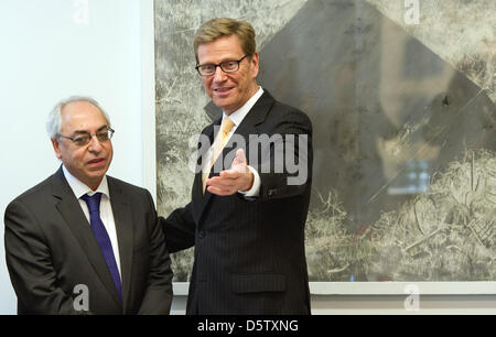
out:
{"label": "plain white wall behind the shorter man, left of the artwork", "polygon": [[[109,174],[143,185],[140,2],[1,0],[0,36],[2,218],[10,200],[57,170],[45,118],[69,95],[93,96],[110,115]],[[14,314],[0,228],[0,314]]]}

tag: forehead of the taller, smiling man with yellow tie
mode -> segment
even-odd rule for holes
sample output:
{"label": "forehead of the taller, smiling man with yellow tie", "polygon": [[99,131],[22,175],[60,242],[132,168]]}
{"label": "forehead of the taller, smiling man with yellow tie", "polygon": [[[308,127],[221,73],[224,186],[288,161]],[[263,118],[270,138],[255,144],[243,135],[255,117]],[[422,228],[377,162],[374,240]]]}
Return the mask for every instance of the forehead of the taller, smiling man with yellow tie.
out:
{"label": "forehead of the taller, smiling man with yellow tie", "polygon": [[229,35],[219,37],[213,42],[198,45],[198,62],[220,62],[242,57],[244,52],[239,37]]}

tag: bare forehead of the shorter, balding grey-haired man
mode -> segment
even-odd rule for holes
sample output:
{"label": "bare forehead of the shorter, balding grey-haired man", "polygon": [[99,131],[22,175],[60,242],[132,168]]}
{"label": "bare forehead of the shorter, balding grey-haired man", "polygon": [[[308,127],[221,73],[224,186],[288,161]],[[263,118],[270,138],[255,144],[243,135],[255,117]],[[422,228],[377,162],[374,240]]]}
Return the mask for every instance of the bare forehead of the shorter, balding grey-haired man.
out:
{"label": "bare forehead of the shorter, balding grey-haired man", "polygon": [[95,131],[107,124],[104,113],[87,101],[74,101],[62,108],[63,131]]}

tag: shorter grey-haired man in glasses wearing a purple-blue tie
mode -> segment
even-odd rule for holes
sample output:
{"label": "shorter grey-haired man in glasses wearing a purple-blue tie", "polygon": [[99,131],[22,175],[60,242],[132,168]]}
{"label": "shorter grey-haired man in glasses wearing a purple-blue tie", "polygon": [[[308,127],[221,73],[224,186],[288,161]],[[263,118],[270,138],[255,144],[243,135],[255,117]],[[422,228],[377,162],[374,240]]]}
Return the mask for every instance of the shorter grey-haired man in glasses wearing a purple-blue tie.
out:
{"label": "shorter grey-haired man in glasses wearing a purple-blue tie", "polygon": [[150,193],[106,175],[107,113],[71,97],[46,127],[62,165],[6,210],[18,314],[169,314],[171,261]]}

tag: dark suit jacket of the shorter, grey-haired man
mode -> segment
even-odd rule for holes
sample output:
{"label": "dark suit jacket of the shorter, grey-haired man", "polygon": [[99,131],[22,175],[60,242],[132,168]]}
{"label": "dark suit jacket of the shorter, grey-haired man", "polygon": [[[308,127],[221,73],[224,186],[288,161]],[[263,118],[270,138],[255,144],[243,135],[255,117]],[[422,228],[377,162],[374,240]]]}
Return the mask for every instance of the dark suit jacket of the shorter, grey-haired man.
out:
{"label": "dark suit jacket of the shorter, grey-haired man", "polygon": [[[123,307],[78,200],[61,168],[6,210],[6,257],[19,314],[169,314],[170,258],[147,189],[107,176],[119,241]],[[77,298],[79,296],[79,298]],[[79,303],[83,304],[84,302]]]}

